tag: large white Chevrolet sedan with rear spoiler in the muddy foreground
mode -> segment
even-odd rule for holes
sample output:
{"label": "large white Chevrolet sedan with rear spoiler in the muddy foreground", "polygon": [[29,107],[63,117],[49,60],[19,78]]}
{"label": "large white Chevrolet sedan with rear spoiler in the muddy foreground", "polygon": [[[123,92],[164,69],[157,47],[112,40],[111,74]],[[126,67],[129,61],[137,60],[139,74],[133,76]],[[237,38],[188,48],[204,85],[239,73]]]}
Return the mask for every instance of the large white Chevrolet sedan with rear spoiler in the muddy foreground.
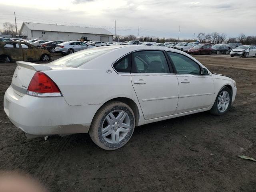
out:
{"label": "large white Chevrolet sedan with rear spoiler in the muddy foreground", "polygon": [[158,46],[104,46],[49,64],[16,62],[4,111],[27,134],[88,133],[115,150],[134,127],[208,111],[228,112],[236,82],[192,56]]}

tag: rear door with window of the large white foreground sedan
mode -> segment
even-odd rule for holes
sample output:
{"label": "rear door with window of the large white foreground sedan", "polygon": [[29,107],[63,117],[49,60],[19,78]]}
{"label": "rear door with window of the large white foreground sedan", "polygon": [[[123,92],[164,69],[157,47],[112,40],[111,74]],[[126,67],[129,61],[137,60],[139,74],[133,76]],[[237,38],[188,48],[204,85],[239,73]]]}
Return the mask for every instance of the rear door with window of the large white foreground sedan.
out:
{"label": "rear door with window of the large white foreground sedan", "polygon": [[178,80],[163,51],[133,52],[131,81],[146,120],[174,114]]}

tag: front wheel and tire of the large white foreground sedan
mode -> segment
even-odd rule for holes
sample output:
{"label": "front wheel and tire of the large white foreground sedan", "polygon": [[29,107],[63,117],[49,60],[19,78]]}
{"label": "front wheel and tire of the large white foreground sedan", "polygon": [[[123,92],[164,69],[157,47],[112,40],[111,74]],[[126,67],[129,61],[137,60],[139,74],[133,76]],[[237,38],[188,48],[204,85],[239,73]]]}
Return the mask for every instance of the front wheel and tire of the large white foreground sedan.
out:
{"label": "front wheel and tire of the large white foreground sedan", "polygon": [[231,102],[232,92],[228,87],[224,86],[218,93],[210,113],[218,116],[225,115],[230,109]]}

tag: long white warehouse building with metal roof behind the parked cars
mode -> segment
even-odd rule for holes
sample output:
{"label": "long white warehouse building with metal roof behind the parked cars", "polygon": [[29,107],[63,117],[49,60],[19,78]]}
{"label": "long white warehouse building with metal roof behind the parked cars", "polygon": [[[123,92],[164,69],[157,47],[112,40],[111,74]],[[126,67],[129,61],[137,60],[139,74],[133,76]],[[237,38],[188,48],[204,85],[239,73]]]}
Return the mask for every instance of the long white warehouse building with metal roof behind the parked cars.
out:
{"label": "long white warehouse building with metal roof behind the parked cars", "polygon": [[78,40],[84,38],[92,41],[110,42],[113,41],[111,32],[103,28],[90,28],[79,26],[66,26],[58,24],[43,24],[23,22],[20,28],[22,35],[28,36],[28,39],[42,40]]}

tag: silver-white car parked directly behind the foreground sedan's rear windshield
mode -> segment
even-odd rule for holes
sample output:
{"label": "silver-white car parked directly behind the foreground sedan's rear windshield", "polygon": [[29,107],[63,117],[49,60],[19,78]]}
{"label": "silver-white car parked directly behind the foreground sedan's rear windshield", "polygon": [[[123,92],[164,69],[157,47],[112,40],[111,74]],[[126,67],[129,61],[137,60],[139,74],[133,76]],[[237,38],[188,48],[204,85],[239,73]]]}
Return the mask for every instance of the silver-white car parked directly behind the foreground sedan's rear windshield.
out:
{"label": "silver-white car parked directly behind the foreground sedan's rear windshield", "polygon": [[55,47],[55,52],[60,52],[62,54],[72,54],[74,52],[92,48],[94,46],[88,45],[84,42],[80,41],[68,41],[68,42],[63,42]]}

